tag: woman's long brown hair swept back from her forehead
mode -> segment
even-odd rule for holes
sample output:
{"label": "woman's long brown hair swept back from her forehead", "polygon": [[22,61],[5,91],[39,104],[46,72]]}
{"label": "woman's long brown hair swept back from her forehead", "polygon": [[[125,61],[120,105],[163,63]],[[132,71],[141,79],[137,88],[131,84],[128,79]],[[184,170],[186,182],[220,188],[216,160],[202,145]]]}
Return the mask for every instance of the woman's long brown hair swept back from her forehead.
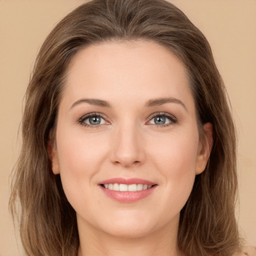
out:
{"label": "woman's long brown hair swept back from her forehead", "polygon": [[[236,141],[225,88],[203,34],[164,0],[93,0],[64,17],[44,41],[25,95],[22,148],[12,180],[10,210],[18,216],[28,255],[76,256],[74,209],[47,155],[68,64],[86,45],[108,40],[150,40],[172,51],[186,67],[202,124],[213,125],[205,170],[196,176],[180,212],[179,250],[188,255],[232,255],[238,248],[234,217]],[[17,204],[17,199],[19,203]],[[17,214],[16,214],[17,213]]]}

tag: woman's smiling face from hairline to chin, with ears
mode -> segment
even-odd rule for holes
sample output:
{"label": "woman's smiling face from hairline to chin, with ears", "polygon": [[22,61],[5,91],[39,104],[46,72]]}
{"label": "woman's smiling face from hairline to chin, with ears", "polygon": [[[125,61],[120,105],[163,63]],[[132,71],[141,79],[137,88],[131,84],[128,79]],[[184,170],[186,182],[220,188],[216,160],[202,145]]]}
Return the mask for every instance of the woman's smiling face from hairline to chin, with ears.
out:
{"label": "woman's smiling face from hairline to chin, with ears", "polygon": [[78,229],[123,237],[176,230],[209,154],[182,62],[147,41],[104,42],[76,54],[53,144],[52,170]]}

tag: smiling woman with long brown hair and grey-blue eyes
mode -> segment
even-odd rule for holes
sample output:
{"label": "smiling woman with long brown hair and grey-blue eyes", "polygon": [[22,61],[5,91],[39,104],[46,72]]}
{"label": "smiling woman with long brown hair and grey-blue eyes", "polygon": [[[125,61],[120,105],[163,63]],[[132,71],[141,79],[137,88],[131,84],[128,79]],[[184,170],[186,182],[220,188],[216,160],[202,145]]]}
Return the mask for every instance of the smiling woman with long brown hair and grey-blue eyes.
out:
{"label": "smiling woman with long brown hair and grey-blue eyes", "polygon": [[233,255],[235,130],[202,33],[163,0],[94,0],[44,41],[10,206],[28,255]]}

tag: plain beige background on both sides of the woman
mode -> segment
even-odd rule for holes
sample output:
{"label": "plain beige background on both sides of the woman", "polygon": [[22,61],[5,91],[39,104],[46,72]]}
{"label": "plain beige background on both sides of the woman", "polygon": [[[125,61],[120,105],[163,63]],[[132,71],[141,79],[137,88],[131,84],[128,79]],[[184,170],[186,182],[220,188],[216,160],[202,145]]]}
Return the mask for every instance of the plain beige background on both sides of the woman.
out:
{"label": "plain beige background on both sides of the woman", "polygon": [[[0,256],[22,255],[7,209],[20,139],[22,98],[38,48],[82,0],[0,0]],[[237,219],[256,245],[256,0],[172,0],[209,40],[236,121],[240,204]]]}

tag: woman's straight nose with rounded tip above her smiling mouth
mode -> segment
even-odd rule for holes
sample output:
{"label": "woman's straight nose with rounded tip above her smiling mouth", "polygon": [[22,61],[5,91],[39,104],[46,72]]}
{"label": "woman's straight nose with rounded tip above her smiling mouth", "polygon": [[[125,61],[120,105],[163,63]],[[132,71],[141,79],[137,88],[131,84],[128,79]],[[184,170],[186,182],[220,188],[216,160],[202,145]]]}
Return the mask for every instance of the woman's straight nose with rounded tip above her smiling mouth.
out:
{"label": "woman's straight nose with rounded tip above her smiling mouth", "polygon": [[111,162],[123,167],[133,167],[143,164],[145,151],[142,134],[135,125],[120,127],[114,134]]}

